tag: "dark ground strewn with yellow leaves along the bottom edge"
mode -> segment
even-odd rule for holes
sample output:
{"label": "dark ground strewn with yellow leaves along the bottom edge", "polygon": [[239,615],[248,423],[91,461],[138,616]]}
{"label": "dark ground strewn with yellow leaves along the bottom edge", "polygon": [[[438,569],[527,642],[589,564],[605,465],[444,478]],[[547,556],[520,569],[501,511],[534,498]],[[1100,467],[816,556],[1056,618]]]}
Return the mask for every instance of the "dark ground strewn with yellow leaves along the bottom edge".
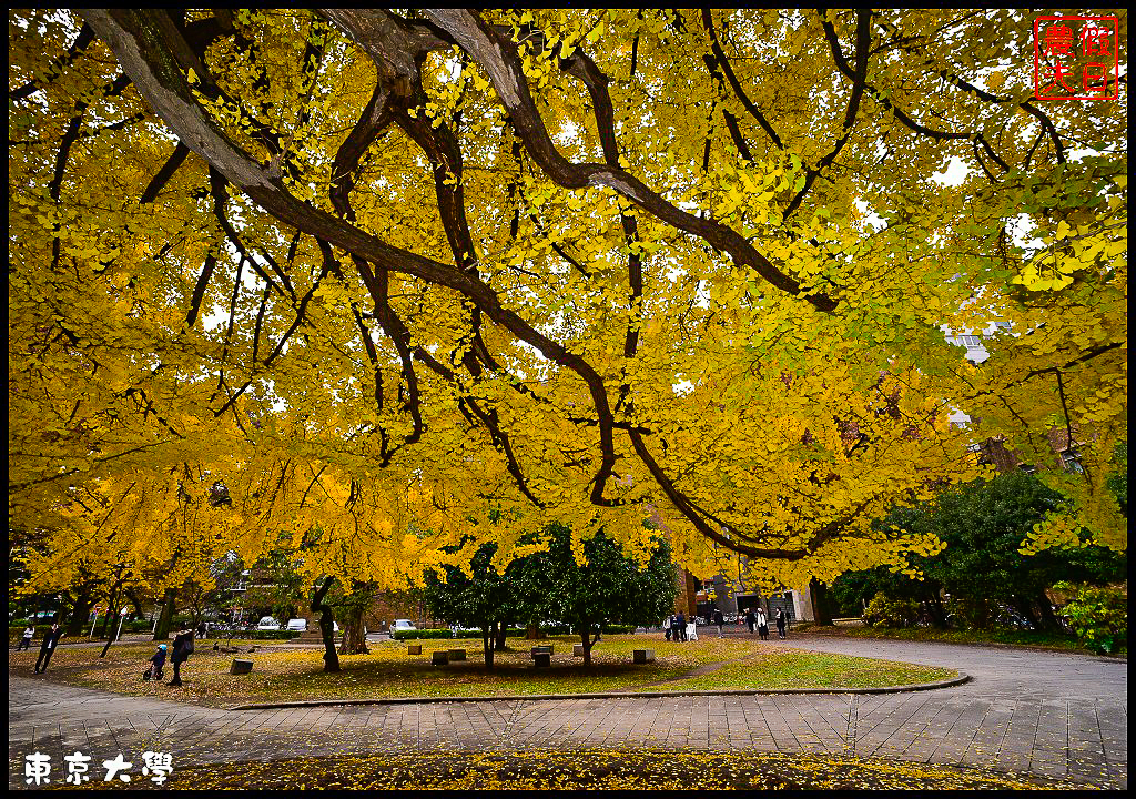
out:
{"label": "dark ground strewn with yellow leaves along the bottom edge", "polygon": [[[94,783],[91,783],[92,785]],[[1033,790],[1083,788],[989,771],[782,752],[638,749],[385,754],[175,769],[168,788],[356,790]]]}

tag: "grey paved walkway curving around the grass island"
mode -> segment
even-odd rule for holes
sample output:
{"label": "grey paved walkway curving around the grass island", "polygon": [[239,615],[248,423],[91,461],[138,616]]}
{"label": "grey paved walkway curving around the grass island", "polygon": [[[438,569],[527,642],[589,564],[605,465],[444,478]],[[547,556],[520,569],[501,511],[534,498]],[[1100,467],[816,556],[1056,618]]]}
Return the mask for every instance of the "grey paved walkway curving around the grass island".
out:
{"label": "grey paved walkway curving around the grass island", "polygon": [[974,681],[877,696],[507,699],[233,711],[11,676],[9,784],[24,786],[23,759],[33,751],[51,755],[58,769],[64,754],[80,750],[101,760],[120,750],[135,758],[137,771],[145,749],[173,754],[176,768],[415,750],[693,747],[897,758],[1127,786],[1127,663],[819,635],[794,636],[788,644],[949,666]]}

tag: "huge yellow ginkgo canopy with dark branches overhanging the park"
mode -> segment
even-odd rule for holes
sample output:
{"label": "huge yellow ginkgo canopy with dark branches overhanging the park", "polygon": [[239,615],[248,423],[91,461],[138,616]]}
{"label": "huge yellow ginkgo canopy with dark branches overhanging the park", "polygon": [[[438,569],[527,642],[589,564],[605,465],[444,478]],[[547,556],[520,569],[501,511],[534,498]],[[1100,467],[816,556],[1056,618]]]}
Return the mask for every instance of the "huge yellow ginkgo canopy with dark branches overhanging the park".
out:
{"label": "huge yellow ginkgo canopy with dark branches overhanging the park", "polygon": [[[552,523],[645,559],[654,514],[696,574],[803,585],[936,551],[870,523],[1063,426],[1031,546],[1125,549],[1126,84],[1033,99],[1031,35],[11,10],[10,527],[41,573],[190,535],[394,585]],[[995,321],[986,363],[951,343]]]}

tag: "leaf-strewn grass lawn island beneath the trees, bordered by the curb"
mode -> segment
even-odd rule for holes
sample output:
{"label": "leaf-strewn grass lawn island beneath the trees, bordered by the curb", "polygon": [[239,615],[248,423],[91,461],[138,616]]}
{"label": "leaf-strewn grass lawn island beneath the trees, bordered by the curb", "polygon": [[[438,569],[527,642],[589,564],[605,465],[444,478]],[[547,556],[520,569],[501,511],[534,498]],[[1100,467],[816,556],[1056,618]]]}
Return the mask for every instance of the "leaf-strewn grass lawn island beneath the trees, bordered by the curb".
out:
{"label": "leaf-strewn grass lawn island beneath the trees, bordered by the curb", "polygon": [[[210,706],[270,701],[378,699],[384,697],[526,696],[600,691],[728,690],[785,688],[868,688],[932,682],[953,677],[945,668],[805,652],[777,641],[711,639],[673,643],[658,636],[609,635],[592,650],[592,665],[571,656],[577,639],[510,641],[511,651],[498,652],[490,672],[482,659],[481,640],[423,640],[421,655],[408,655],[407,643],[371,646],[370,655],[340,656],[342,672],[324,674],[323,650],[286,648],[269,642],[247,654],[253,642],[240,642],[240,656],[211,651],[199,641],[198,651],[182,668],[183,688],[144,682],[154,644],[115,644],[106,659],[95,647],[61,647],[47,679],[116,693],[147,696]],[[237,642],[234,642],[236,644]],[[418,643],[418,642],[415,642]],[[552,666],[534,668],[529,646],[552,643]],[[431,665],[435,649],[467,650],[466,661]],[[633,649],[653,649],[657,660],[633,665]],[[31,674],[37,652],[9,652],[9,673]],[[231,675],[234,657],[253,661],[251,674]],[[166,680],[173,668],[166,664]]]}

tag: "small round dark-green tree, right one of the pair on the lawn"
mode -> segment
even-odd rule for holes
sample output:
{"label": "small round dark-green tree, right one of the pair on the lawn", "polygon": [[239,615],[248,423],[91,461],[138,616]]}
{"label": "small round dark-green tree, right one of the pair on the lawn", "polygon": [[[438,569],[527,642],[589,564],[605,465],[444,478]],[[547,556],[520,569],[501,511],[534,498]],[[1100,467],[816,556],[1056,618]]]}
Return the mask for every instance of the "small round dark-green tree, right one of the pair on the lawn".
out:
{"label": "small round dark-green tree, right one of the pair on the lawn", "polygon": [[592,646],[605,623],[655,624],[674,607],[675,566],[665,541],[641,566],[601,533],[583,542],[579,564],[567,527],[554,524],[548,535],[548,550],[513,564],[510,577],[533,609],[571,625],[584,644],[584,665],[592,664]]}

